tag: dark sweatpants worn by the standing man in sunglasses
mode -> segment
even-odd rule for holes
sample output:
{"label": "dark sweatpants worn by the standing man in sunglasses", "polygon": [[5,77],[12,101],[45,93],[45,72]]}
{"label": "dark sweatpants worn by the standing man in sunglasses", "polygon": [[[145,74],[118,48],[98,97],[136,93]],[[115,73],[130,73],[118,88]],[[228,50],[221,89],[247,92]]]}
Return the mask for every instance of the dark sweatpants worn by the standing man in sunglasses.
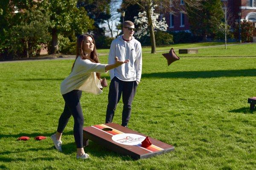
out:
{"label": "dark sweatpants worn by the standing man in sunglasses", "polygon": [[137,82],[126,82],[114,77],[109,85],[106,123],[111,123],[121,95],[123,100],[122,126],[127,126],[131,117],[131,103],[137,89]]}

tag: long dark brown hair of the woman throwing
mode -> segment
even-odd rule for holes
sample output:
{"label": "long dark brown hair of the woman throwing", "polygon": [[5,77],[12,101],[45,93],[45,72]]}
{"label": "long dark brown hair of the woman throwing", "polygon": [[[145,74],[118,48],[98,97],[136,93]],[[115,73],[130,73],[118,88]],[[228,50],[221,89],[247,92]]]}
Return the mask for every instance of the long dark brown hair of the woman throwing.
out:
{"label": "long dark brown hair of the woman throwing", "polygon": [[[83,49],[82,49],[83,42],[87,37],[91,37],[93,39],[93,44],[94,44],[94,48],[93,48],[93,51],[90,54],[90,57],[85,56],[84,52],[83,52]],[[81,34],[77,38],[77,41],[76,41],[76,59],[79,56],[81,56],[82,59],[90,59],[91,62],[99,63],[99,57],[98,57],[97,50],[96,50],[95,40],[94,40],[94,38],[91,34],[87,34],[87,33],[86,34]],[[75,62],[76,62],[76,59],[75,59]],[[75,62],[73,63],[73,66],[71,68],[71,72],[73,71]],[[96,76],[98,77],[98,79],[100,79],[100,73],[96,73]]]}

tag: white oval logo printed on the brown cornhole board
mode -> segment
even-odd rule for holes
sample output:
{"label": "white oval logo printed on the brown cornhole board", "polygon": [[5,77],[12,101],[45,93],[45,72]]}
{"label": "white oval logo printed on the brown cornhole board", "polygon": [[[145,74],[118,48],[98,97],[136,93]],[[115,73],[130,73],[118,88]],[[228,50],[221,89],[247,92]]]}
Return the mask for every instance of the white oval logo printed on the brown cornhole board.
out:
{"label": "white oval logo printed on the brown cornhole board", "polygon": [[133,134],[133,133],[121,133],[112,136],[112,140],[119,144],[126,145],[138,145],[145,139],[145,136]]}

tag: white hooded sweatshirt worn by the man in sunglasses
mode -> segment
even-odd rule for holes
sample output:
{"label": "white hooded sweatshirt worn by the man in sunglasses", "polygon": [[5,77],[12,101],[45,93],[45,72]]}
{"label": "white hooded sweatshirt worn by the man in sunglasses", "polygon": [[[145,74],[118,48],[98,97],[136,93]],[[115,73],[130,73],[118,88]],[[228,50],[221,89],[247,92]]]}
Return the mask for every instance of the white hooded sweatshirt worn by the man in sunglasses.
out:
{"label": "white hooded sweatshirt worn by the man in sunglasses", "polygon": [[122,39],[122,35],[118,36],[112,41],[108,64],[114,64],[115,57],[118,57],[120,61],[129,59],[130,62],[120,65],[109,71],[110,78],[117,77],[122,81],[138,81],[140,82],[142,72],[142,51],[141,44],[134,37],[130,41]]}

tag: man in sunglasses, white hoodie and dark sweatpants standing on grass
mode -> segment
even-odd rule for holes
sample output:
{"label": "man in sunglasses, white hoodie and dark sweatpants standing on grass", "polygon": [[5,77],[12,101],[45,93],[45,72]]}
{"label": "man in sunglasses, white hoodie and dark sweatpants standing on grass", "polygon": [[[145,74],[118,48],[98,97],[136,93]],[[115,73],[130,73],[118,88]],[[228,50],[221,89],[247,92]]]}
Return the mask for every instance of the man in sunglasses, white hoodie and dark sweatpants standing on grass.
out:
{"label": "man in sunglasses, white hoodie and dark sweatpants standing on grass", "polygon": [[115,68],[110,73],[111,83],[108,93],[108,107],[106,123],[111,123],[121,95],[123,100],[122,126],[128,127],[131,117],[131,103],[134,99],[137,85],[140,82],[142,72],[142,51],[141,44],[133,37],[134,23],[125,21],[122,26],[123,35],[112,41],[108,64],[115,63],[115,57],[123,61],[129,59],[126,65]]}

